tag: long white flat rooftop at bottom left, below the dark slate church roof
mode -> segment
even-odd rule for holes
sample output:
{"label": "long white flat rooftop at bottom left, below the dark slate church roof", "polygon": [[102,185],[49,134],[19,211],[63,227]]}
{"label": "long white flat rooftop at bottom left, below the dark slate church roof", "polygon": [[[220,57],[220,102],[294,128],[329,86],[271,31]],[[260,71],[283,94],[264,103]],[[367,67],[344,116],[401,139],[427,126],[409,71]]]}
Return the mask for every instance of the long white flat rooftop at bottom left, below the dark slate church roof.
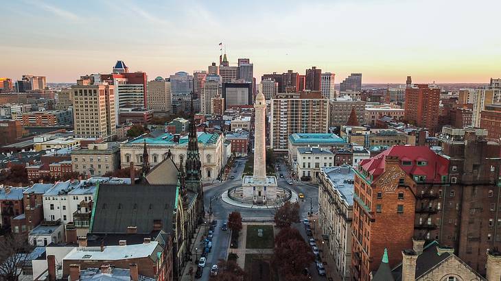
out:
{"label": "long white flat rooftop at bottom left, below the dark slate church roof", "polygon": [[[125,260],[128,258],[145,258],[156,252],[159,243],[107,246],[101,252],[100,247],[75,247],[63,260]],[[161,249],[158,249],[161,251]],[[156,256],[156,255],[155,255]]]}

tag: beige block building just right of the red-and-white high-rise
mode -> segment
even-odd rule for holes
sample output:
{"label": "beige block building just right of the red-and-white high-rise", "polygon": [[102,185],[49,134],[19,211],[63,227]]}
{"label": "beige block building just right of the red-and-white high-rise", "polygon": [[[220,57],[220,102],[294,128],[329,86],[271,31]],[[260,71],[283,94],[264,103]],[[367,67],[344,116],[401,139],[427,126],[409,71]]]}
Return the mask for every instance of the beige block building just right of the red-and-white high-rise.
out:
{"label": "beige block building just right of the red-and-white high-rise", "polygon": [[170,82],[162,77],[148,82],[148,109],[154,114],[166,114],[172,112]]}

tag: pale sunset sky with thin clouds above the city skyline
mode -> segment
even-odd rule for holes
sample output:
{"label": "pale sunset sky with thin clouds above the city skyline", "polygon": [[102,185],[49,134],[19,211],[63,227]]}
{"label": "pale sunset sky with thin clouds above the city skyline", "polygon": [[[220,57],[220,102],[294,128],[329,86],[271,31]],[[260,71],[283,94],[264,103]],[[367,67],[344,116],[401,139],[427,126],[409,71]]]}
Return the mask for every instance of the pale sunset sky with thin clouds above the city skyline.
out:
{"label": "pale sunset sky with thin clouds above the city skyline", "polygon": [[49,1],[2,3],[0,77],[75,82],[117,60],[154,77],[231,63],[264,73],[317,66],[363,83],[501,77],[499,0]]}

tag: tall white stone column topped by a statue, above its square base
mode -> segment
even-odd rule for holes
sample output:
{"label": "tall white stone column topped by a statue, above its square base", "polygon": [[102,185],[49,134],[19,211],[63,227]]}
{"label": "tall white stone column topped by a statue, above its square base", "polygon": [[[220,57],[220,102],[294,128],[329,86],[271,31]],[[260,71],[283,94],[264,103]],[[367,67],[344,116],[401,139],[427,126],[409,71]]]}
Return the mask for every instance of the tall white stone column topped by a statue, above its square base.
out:
{"label": "tall white stone column topped by a statue, above its square base", "polygon": [[266,102],[258,93],[254,103],[254,182],[266,182]]}

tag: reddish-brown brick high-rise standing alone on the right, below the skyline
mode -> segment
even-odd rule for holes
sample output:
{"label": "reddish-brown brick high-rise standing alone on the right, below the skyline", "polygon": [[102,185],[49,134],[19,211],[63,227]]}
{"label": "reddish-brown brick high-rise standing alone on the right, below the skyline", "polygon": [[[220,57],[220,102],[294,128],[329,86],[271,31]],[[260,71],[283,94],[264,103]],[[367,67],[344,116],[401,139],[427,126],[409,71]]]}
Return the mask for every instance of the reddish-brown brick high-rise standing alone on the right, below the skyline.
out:
{"label": "reddish-brown brick high-rise standing alone on the right, below the skyline", "polygon": [[426,127],[430,132],[439,130],[440,88],[430,88],[427,84],[415,84],[406,88],[406,108],[404,119],[418,127]]}

